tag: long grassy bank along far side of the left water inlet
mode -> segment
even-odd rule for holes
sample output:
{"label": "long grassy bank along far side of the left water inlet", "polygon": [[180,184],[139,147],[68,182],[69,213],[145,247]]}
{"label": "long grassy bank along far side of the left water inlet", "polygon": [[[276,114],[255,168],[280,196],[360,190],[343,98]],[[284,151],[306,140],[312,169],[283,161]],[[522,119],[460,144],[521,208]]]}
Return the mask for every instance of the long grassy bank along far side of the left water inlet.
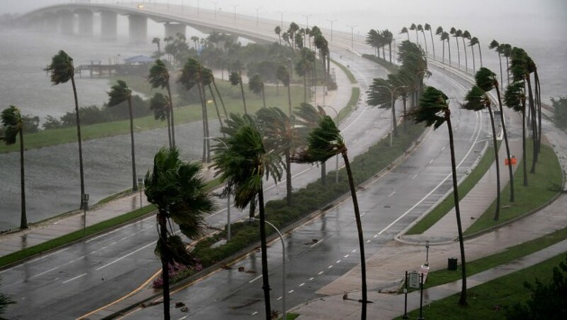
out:
{"label": "long grassy bank along far side of the left water inlet", "polygon": [[[221,81],[219,81],[221,82]],[[219,89],[220,90],[220,89]],[[266,86],[266,106],[276,106],[287,110],[288,100],[287,94],[285,94],[285,88],[279,88],[279,94],[276,93],[276,88],[274,86]],[[224,91],[221,91],[224,92]],[[262,108],[262,97],[254,94],[250,91],[245,92],[247,110],[249,113],[254,113],[259,108]],[[299,105],[303,102],[303,88],[301,86],[291,86],[291,102],[292,105]],[[228,113],[243,113],[242,109],[242,98],[240,93],[238,95],[228,94],[223,96],[225,101],[225,106]],[[222,107],[219,103],[219,109],[222,113]],[[208,105],[208,115],[209,120],[216,120],[217,115],[214,109],[214,105],[211,103]],[[200,105],[184,105],[179,108],[175,108],[175,124],[181,125],[188,122],[201,120],[201,106]],[[142,132],[157,128],[166,127],[167,122],[155,120],[153,115],[148,115],[142,118],[136,118],[134,120],[134,130],[135,132]],[[112,137],[115,135],[126,135],[130,133],[130,122],[129,120],[120,120],[113,122],[99,123],[96,125],[84,125],[81,127],[81,134],[83,141],[90,139],[99,139],[103,137]],[[40,132],[28,134],[25,137],[25,148],[36,149],[41,147],[49,147],[57,144],[64,144],[70,142],[77,142],[77,128],[76,127],[66,127],[61,129],[53,130],[42,130]],[[6,152],[18,152],[19,144],[12,144],[11,146],[6,146],[5,144],[0,144],[0,153]]]}

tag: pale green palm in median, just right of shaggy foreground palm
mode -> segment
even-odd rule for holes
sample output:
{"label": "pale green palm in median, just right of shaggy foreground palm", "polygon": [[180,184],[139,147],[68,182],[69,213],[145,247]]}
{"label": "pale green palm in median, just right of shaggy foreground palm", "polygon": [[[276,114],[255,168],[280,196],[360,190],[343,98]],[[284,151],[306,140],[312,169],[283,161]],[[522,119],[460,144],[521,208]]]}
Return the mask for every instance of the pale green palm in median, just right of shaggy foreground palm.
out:
{"label": "pale green palm in median, just right of shaggy foreground palm", "polygon": [[257,119],[266,136],[266,147],[283,155],[286,168],[286,202],[291,206],[291,158],[302,140],[296,120],[293,115],[290,117],[274,107],[258,110]]}

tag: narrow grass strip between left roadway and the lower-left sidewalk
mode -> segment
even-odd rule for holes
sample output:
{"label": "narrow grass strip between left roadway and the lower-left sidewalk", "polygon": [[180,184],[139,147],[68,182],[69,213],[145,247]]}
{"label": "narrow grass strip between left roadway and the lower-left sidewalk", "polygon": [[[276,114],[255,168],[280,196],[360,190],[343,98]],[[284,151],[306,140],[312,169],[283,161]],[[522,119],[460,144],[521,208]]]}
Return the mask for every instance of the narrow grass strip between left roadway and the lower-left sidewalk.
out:
{"label": "narrow grass strip between left roadway and the lower-left sidewalk", "polygon": [[49,241],[45,241],[43,244],[30,246],[29,248],[25,248],[21,251],[10,253],[0,258],[0,268],[6,265],[10,265],[11,263],[15,263],[17,261],[21,261],[25,258],[29,258],[30,256],[35,256],[38,253],[43,253],[45,251],[50,251],[52,249],[59,248],[60,246],[71,244],[74,241],[79,241],[87,236],[93,236],[95,234],[105,232],[106,230],[111,229],[113,227],[117,227],[120,224],[125,224],[135,219],[139,219],[140,217],[144,217],[145,215],[150,214],[154,210],[155,207],[153,205],[148,205],[146,207],[142,207],[132,212],[128,212],[125,215],[120,215],[118,217],[114,217],[112,219],[99,222],[98,224],[94,224],[90,227],[86,227],[84,232],[83,230],[79,230],[76,232],[72,232],[70,234],[65,234],[64,236],[60,236],[58,238]]}

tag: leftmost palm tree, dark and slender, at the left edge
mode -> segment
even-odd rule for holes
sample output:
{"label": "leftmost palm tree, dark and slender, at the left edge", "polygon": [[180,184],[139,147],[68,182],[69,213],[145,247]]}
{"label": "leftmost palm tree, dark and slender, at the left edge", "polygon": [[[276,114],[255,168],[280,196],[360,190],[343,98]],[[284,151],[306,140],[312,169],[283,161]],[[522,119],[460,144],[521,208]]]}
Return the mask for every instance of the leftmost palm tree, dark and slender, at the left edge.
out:
{"label": "leftmost palm tree, dark and slender, at the left edge", "polygon": [[15,144],[16,138],[20,136],[20,194],[21,194],[21,218],[20,229],[28,229],[28,217],[26,215],[26,174],[23,165],[23,118],[20,109],[10,105],[0,114],[0,120],[4,127],[4,137],[0,139],[8,145]]}

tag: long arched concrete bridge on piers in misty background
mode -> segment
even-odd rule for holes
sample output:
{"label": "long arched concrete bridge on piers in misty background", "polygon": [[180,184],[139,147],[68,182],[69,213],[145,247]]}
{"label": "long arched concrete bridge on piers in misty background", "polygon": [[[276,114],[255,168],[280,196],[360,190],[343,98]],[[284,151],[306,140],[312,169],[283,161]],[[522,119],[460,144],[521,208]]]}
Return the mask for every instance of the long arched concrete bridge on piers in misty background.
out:
{"label": "long arched concrete bridge on piers in misty background", "polygon": [[147,42],[148,19],[164,25],[164,37],[175,36],[178,33],[186,35],[186,27],[190,26],[205,34],[216,31],[233,36],[242,35],[257,42],[274,41],[274,27],[278,23],[266,19],[262,19],[262,23],[259,23],[257,17],[232,14],[216,8],[212,10],[157,2],[142,4],[134,1],[116,1],[105,4],[79,0],[74,3],[38,8],[23,14],[16,22],[21,27],[33,28],[44,33],[91,38],[95,34],[95,25],[98,25],[94,21],[100,20],[101,38],[116,40],[118,16],[128,18],[130,42]]}

